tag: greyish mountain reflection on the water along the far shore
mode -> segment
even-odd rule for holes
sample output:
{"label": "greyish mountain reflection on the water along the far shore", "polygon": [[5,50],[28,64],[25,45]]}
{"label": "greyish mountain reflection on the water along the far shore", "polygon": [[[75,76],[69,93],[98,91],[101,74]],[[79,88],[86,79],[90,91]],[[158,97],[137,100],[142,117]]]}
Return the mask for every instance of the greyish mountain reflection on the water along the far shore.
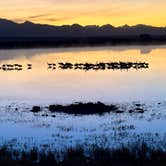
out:
{"label": "greyish mountain reflection on the water along the far shore", "polygon": [[76,48],[55,48],[55,49],[5,49],[0,50],[0,61],[11,60],[19,57],[31,58],[34,55],[52,54],[52,53],[67,53],[67,52],[94,52],[94,51],[114,51],[114,52],[125,52],[128,50],[137,50],[139,54],[145,55],[158,49],[166,49],[166,45],[131,45],[131,46],[110,46],[110,47],[76,47]]}

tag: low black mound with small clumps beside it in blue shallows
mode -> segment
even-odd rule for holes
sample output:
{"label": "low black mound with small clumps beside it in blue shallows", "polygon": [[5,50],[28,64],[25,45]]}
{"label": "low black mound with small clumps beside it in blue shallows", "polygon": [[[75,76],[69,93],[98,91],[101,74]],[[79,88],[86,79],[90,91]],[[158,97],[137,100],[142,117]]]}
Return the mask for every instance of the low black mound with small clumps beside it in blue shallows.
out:
{"label": "low black mound with small clumps beside it in blue shallows", "polygon": [[[141,104],[135,104],[135,107],[133,109],[128,110],[130,114],[132,113],[141,113],[143,114],[146,110],[141,107]],[[68,105],[60,105],[60,104],[53,104],[45,107],[48,111],[42,114],[42,116],[49,116],[49,112],[51,113],[66,113],[66,114],[74,114],[74,115],[92,115],[92,114],[99,114],[102,115],[104,113],[117,113],[122,114],[125,112],[125,108],[120,108],[118,105],[115,104],[104,104],[102,102],[88,102],[88,103],[82,103],[82,102],[76,102],[73,104]],[[33,106],[31,109],[31,112],[38,113],[41,112],[42,109],[40,106]],[[53,118],[56,117],[56,115],[51,115]]]}

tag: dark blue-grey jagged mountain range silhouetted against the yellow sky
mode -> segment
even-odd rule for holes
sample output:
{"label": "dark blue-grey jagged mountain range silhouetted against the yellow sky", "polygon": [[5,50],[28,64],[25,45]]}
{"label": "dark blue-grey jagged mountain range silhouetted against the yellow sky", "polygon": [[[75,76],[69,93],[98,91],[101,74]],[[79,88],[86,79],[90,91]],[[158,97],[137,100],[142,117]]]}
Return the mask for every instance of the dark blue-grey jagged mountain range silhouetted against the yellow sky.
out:
{"label": "dark blue-grey jagged mountain range silhouetted against the yellow sky", "polygon": [[[51,26],[35,24],[29,21],[15,23],[0,19],[0,37],[111,37],[111,36],[166,36],[166,27],[148,25],[120,26],[79,24]],[[142,36],[147,37],[147,36]]]}

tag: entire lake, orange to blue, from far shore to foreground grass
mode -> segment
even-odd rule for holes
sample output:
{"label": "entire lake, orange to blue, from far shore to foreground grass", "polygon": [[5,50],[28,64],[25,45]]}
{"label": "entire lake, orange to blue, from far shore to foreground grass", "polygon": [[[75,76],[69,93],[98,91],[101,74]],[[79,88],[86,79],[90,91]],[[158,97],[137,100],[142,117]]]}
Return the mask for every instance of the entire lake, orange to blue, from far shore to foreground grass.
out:
{"label": "entire lake, orange to blue, from far shore to foreground grass", "polygon": [[[0,50],[0,145],[165,147],[166,45]],[[70,115],[49,104],[114,103],[123,113]],[[31,112],[39,105],[39,113]],[[166,149],[166,147],[165,147]]]}

